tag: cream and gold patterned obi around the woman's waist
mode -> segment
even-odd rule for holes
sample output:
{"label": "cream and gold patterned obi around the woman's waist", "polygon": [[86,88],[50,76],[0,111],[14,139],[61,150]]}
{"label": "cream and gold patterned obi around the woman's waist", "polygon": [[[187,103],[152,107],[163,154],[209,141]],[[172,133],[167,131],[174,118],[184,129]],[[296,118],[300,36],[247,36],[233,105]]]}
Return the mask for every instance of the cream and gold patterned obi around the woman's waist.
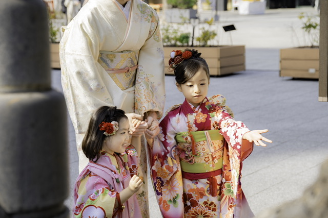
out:
{"label": "cream and gold patterned obi around the woman's waist", "polygon": [[100,51],[98,63],[106,70],[121,90],[126,90],[135,85],[138,57],[139,50],[121,52]]}

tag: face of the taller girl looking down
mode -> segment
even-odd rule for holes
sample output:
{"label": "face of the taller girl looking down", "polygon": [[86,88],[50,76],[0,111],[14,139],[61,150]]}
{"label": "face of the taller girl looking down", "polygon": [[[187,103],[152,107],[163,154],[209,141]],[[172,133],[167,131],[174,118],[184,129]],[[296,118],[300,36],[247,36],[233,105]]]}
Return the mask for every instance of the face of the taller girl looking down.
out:
{"label": "face of the taller girl looking down", "polygon": [[177,87],[185,95],[187,101],[197,107],[206,98],[209,84],[210,81],[206,71],[200,68],[190,80],[178,84]]}

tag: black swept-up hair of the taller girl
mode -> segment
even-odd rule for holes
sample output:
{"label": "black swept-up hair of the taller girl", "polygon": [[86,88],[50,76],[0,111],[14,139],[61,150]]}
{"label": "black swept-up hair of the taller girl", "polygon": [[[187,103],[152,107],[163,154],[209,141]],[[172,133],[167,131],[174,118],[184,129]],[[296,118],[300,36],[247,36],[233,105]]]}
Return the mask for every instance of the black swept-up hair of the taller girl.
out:
{"label": "black swept-up hair of the taller girl", "polygon": [[190,51],[192,53],[191,58],[183,60],[174,69],[175,81],[177,84],[184,84],[195,76],[196,72],[202,68],[210,80],[210,70],[205,59],[201,58],[201,53],[197,50],[186,49],[185,51]]}

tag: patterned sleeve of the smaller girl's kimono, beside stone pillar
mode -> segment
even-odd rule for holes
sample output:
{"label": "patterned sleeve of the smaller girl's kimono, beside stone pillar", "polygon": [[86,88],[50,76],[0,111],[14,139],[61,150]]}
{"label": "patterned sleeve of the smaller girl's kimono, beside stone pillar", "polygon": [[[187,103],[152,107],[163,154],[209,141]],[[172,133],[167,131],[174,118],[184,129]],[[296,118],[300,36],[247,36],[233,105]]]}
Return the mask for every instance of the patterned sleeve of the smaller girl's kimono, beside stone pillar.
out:
{"label": "patterned sleeve of the smaller girl's kimono, beside stone pillar", "polygon": [[74,217],[112,217],[116,191],[101,177],[90,173],[80,181]]}

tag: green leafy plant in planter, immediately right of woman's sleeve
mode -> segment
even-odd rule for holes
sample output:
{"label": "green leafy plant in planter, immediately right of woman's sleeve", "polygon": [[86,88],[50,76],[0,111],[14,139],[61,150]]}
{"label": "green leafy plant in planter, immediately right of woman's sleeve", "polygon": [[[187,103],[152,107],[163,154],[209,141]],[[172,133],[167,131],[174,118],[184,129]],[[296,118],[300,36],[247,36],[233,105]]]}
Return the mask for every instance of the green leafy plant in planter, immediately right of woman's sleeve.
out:
{"label": "green leafy plant in planter, immediately right of woman's sleeve", "polygon": [[162,26],[162,41],[164,46],[188,46],[190,33],[181,33],[179,28],[172,25]]}

